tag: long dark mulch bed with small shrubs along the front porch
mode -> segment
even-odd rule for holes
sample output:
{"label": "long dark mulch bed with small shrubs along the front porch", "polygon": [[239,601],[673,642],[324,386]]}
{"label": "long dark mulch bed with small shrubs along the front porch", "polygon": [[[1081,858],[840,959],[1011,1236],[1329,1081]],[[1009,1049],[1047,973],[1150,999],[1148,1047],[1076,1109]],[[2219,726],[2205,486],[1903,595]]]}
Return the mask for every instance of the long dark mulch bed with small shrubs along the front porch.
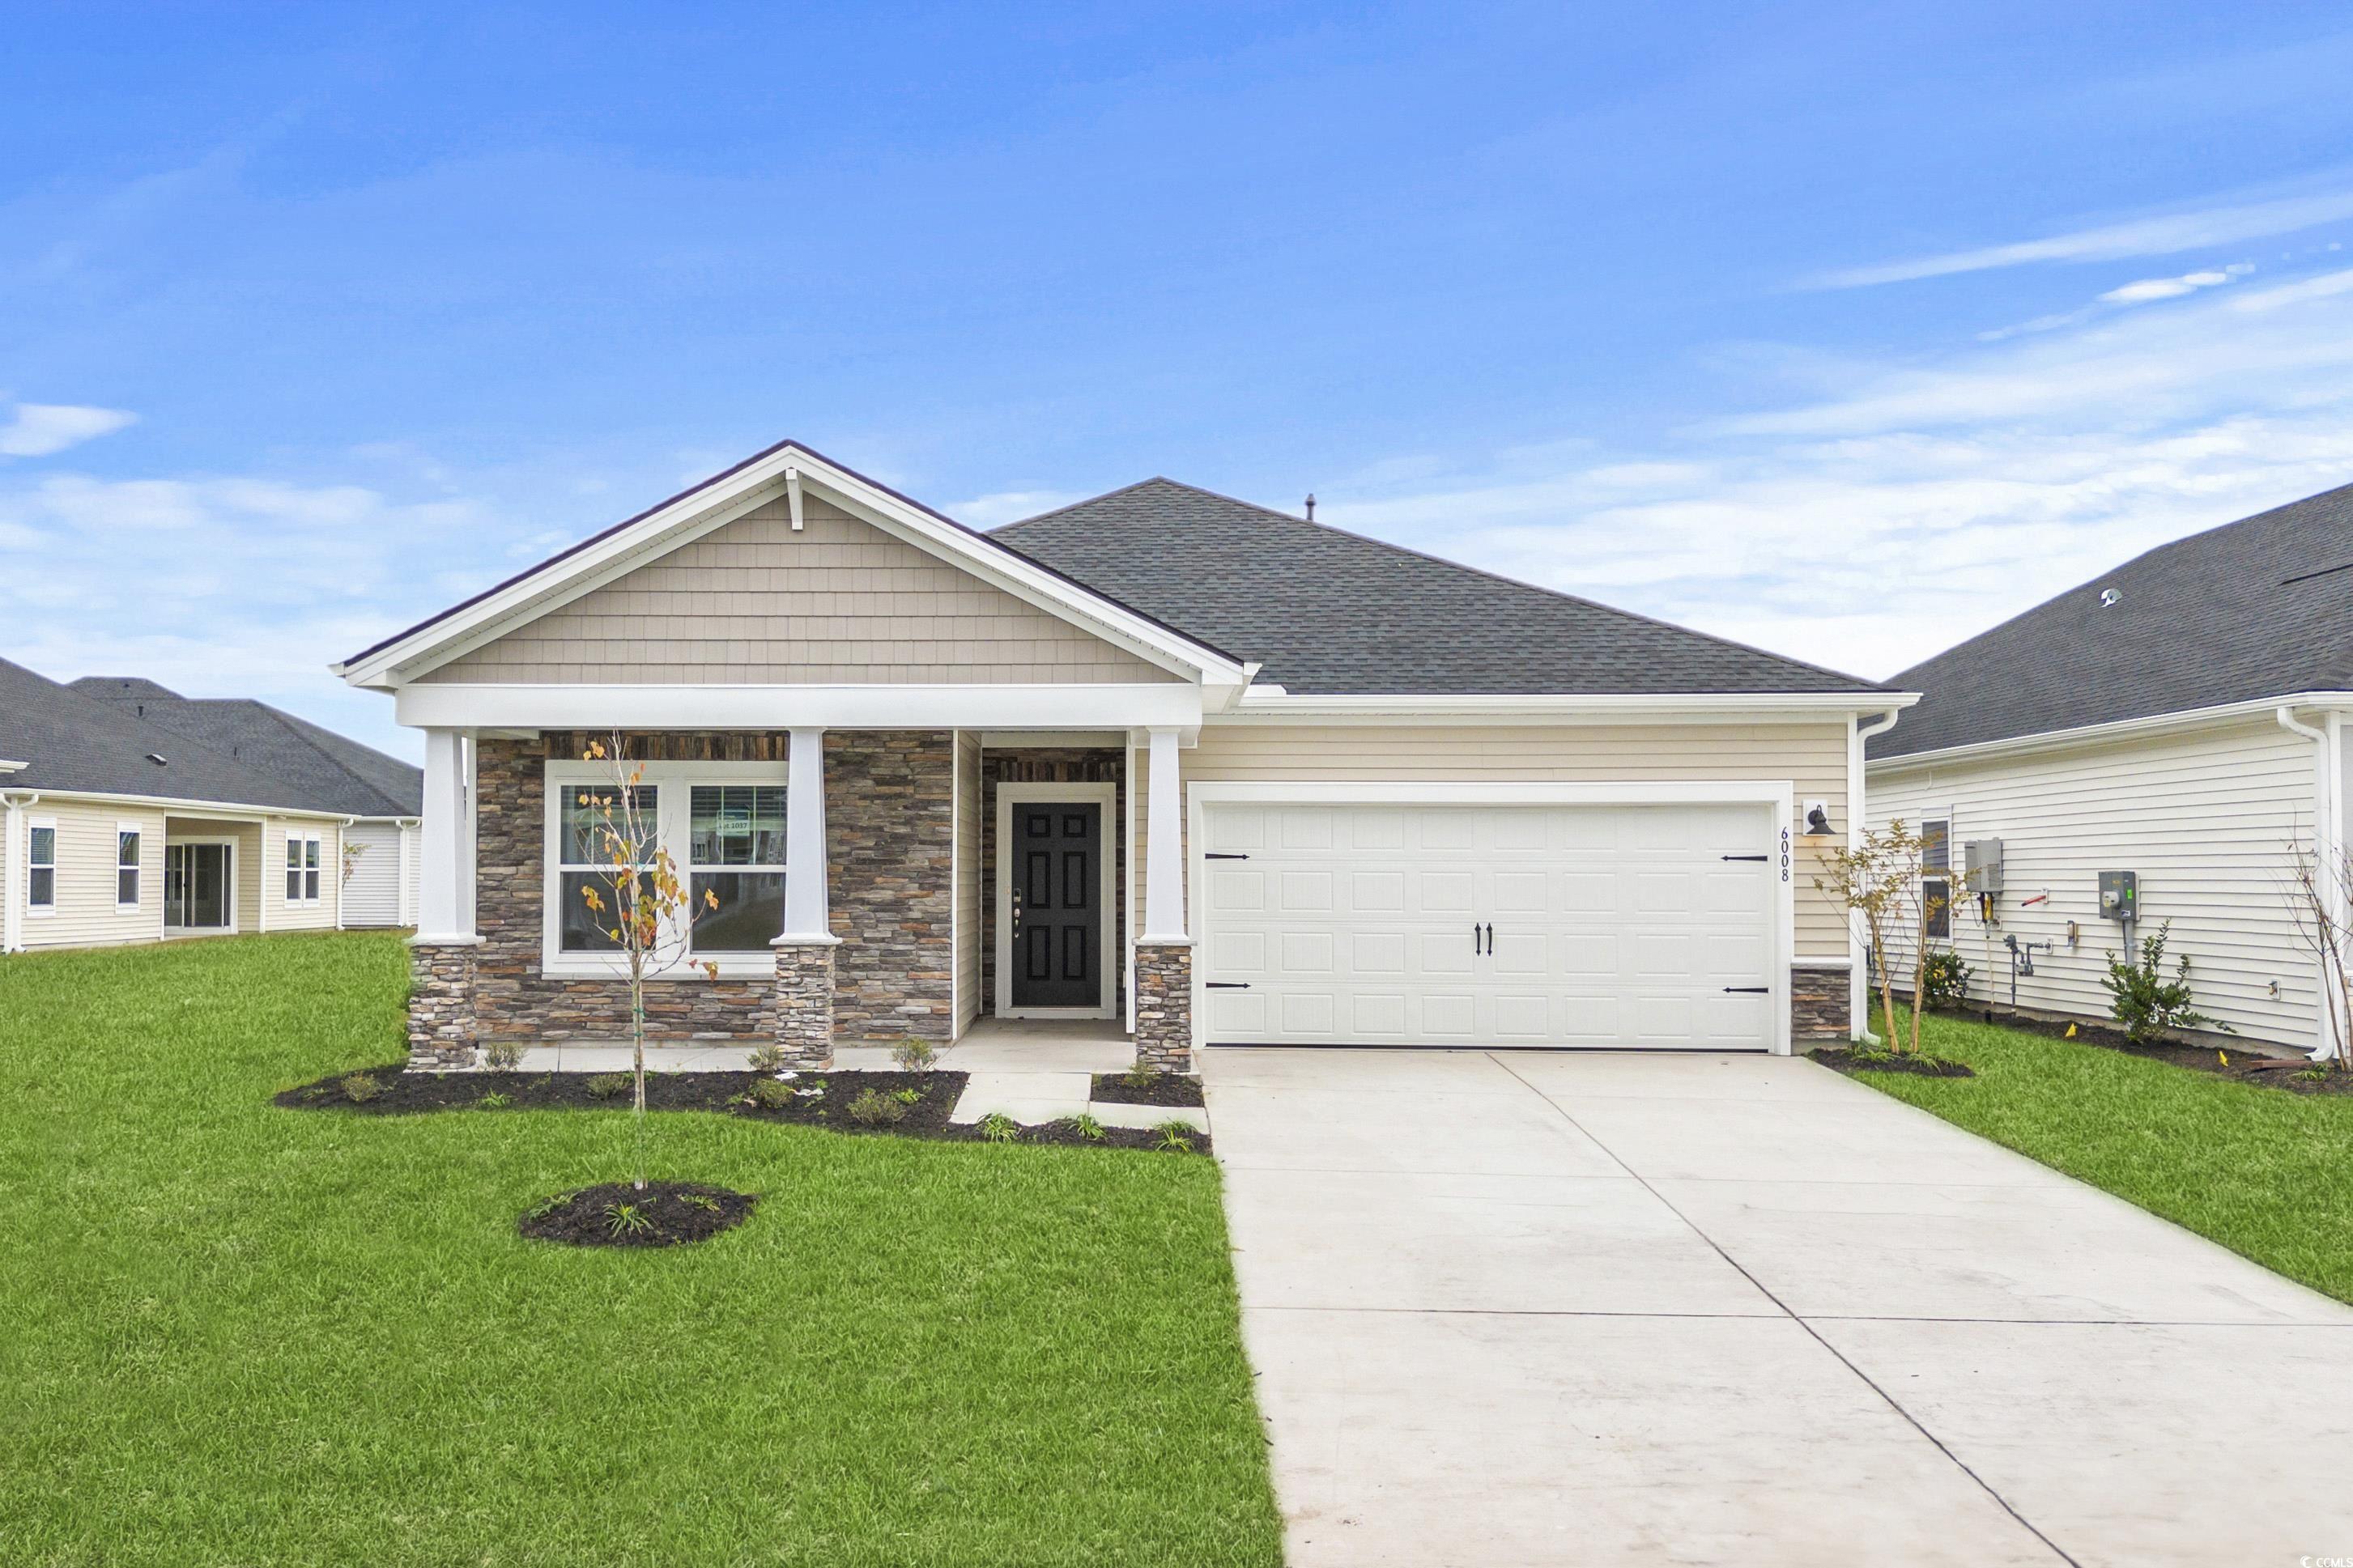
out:
{"label": "long dark mulch bed with small shrubs along the front porch", "polygon": [[[1007,1126],[1014,1128],[1014,1135],[993,1138],[979,1124],[948,1121],[969,1077],[965,1072],[802,1072],[798,1079],[772,1079],[760,1072],[647,1072],[645,1107],[701,1110],[746,1117],[751,1121],[824,1126],[835,1133],[889,1133],[896,1138],[939,1138],[944,1143],[1049,1143],[1096,1150],[1169,1147],[1151,1128],[1106,1126],[1101,1128],[1101,1138],[1087,1138],[1073,1121],[1038,1126],[1009,1121]],[[600,1095],[591,1088],[614,1088],[609,1079],[619,1079],[616,1093]],[[861,1114],[859,1100],[868,1093],[873,1100],[866,1100],[866,1112]],[[362,1072],[336,1072],[315,1084],[287,1088],[273,1103],[285,1110],[341,1110],[367,1117],[447,1110],[487,1114],[506,1110],[628,1110],[631,1074],[409,1072],[402,1063],[393,1063]],[[868,1119],[875,1112],[880,1112],[880,1119]],[[1186,1128],[1184,1135],[1191,1147],[1169,1152],[1209,1152],[1207,1133]]]}

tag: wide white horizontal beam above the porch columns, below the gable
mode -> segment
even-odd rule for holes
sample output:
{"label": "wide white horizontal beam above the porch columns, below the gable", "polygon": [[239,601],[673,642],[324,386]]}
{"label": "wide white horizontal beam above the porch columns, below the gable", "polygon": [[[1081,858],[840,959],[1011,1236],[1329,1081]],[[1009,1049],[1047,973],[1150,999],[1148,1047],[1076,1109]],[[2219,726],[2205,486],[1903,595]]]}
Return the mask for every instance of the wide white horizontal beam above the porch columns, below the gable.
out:
{"label": "wide white horizontal beam above the porch columns, below the gable", "polygon": [[1035,686],[400,686],[416,729],[1129,729],[1200,724],[1191,682]]}

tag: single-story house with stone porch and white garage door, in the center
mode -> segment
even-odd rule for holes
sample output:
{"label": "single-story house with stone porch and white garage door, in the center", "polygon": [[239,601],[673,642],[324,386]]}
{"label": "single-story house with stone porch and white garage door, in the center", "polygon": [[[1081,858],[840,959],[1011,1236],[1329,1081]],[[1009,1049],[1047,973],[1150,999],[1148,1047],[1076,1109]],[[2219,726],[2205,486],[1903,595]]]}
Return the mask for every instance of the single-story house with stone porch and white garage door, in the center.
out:
{"label": "single-story house with stone porch and white garage door, in the center", "polygon": [[426,731],[449,1065],[626,1027],[567,832],[614,731],[720,903],[664,1039],[1788,1051],[1847,1034],[1812,875],[1911,701],[1167,480],[974,534],[791,442],[339,672]]}

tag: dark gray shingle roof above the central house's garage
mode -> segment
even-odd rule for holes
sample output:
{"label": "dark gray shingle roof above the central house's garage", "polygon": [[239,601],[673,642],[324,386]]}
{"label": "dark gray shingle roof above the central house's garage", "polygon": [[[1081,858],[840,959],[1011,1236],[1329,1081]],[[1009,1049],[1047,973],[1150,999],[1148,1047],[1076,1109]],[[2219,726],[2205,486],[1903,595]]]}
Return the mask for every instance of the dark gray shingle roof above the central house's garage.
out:
{"label": "dark gray shingle roof above the central house's garage", "polygon": [[1146,480],[991,538],[1292,693],[1824,693],[1873,682]]}

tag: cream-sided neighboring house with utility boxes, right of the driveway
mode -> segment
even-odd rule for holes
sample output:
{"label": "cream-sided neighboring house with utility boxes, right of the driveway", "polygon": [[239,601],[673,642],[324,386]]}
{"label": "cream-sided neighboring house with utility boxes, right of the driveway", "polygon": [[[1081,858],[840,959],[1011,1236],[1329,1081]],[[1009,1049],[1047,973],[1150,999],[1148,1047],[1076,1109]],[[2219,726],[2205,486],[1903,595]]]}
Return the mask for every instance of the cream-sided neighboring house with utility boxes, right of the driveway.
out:
{"label": "cream-sided neighboring house with utility boxes, right of the driveway", "polygon": [[[1871,738],[1871,818],[1951,839],[1948,940],[1972,994],[2108,1016],[2101,872],[2134,872],[2134,940],[2172,924],[2198,1009],[2320,1044],[2318,961],[2289,917],[2294,849],[2344,844],[2353,710],[2353,487],[2162,545],[1897,677],[1925,691]],[[1988,926],[1962,886],[2000,839]],[[2341,889],[2339,889],[2341,907]],[[1899,973],[1908,973],[1901,964]]]}

